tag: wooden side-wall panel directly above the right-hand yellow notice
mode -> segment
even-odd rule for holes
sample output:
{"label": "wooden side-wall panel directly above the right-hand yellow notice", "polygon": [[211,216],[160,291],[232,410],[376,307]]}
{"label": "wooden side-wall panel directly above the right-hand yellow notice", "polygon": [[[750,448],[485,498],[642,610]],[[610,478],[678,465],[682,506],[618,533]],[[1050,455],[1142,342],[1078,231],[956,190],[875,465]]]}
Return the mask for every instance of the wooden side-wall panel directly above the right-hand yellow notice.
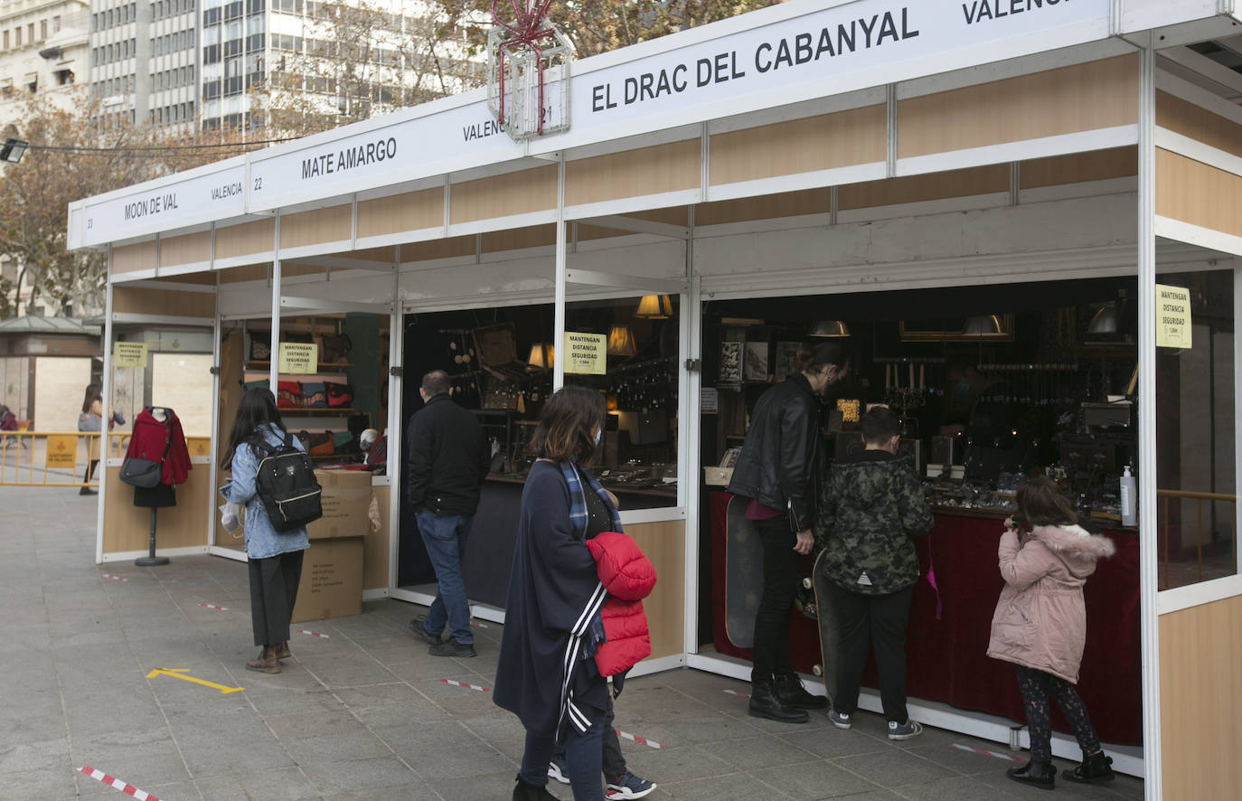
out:
{"label": "wooden side-wall panel directly above the right-hand yellow notice", "polygon": [[1242,176],[1156,148],[1156,214],[1242,236]]}

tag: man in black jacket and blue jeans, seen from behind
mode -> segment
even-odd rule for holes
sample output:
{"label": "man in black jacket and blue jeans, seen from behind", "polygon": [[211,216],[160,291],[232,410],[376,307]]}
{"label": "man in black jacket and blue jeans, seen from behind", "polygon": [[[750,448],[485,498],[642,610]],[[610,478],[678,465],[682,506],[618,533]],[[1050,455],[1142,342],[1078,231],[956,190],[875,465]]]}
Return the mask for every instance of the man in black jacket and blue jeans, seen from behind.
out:
{"label": "man in black jacket and blue jeans, seen from behind", "polygon": [[[474,635],[469,630],[462,559],[492,453],[478,420],[455,404],[451,392],[452,382],[443,370],[422,376],[419,395],[426,406],[410,419],[406,435],[406,499],[437,581],[431,611],[410,621],[410,628],[431,645],[428,652],[433,656],[472,657]],[[451,636],[441,642],[446,625]]]}

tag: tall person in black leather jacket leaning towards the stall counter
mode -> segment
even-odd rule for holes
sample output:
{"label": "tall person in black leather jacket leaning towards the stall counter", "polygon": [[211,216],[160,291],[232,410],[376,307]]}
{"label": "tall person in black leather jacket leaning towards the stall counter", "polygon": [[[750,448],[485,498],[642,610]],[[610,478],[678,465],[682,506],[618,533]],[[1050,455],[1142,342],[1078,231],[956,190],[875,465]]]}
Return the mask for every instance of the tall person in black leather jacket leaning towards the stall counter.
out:
{"label": "tall person in black leather jacket leaning towards the stall counter", "polygon": [[804,348],[801,370],[759,397],[729,482],[729,492],[750,498],[764,549],[764,592],[755,613],[750,714],[805,723],[806,709],[827,699],[802,687],[790,659],[790,609],[799,561],[811,553],[820,497],[818,397],[846,378],[850,359],[836,342]]}

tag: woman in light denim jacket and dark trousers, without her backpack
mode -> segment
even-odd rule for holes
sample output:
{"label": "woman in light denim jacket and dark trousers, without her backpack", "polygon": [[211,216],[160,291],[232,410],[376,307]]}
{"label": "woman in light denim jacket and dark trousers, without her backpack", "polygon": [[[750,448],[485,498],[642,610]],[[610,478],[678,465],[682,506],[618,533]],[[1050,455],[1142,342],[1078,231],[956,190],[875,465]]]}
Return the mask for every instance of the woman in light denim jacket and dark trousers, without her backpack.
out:
{"label": "woman in light denim jacket and dark trousers, without her backpack", "polygon": [[284,532],[277,529],[257,491],[256,479],[265,452],[291,443],[298,451],[304,450],[298,438],[284,430],[272,394],[260,387],[246,390],[220,459],[221,469],[231,469],[232,478],[220,493],[229,503],[246,507],[250,610],[255,645],[262,647],[258,657],[246,663],[246,669],[261,673],[279,673],[279,661],[289,656],[289,618],[302,576],[302,551],[310,546],[306,525]]}

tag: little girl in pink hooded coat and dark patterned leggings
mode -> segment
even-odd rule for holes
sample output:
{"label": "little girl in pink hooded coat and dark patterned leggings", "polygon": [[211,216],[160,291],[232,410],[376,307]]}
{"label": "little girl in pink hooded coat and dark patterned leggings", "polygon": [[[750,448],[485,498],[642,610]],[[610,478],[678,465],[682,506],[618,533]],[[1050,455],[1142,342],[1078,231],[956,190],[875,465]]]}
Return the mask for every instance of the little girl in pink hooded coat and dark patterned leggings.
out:
{"label": "little girl in pink hooded coat and dark patterned leggings", "polygon": [[[1107,536],[1079,528],[1077,518],[1051,478],[1032,478],[1017,489],[1017,514],[1005,522],[999,549],[1005,589],[992,615],[987,656],[1015,664],[1031,735],[1031,761],[1006,772],[1013,781],[1043,790],[1052,790],[1057,776],[1049,697],[1083,751],[1082,764],[1063,777],[1078,782],[1113,779],[1113,760],[1100,749],[1074,683],[1087,638],[1083,584],[1095,572],[1095,563],[1117,549]],[[1030,530],[1020,535],[1015,520]]]}

